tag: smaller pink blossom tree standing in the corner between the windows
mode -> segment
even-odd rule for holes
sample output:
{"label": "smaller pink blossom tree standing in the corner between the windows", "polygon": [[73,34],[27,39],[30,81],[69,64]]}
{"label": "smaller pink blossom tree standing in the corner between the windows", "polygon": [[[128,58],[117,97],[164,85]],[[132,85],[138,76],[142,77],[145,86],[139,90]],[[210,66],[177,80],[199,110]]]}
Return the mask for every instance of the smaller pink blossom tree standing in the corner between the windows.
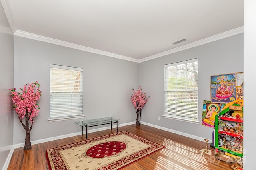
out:
{"label": "smaller pink blossom tree standing in the corner between the windows", "polygon": [[132,104],[135,107],[136,113],[137,113],[137,119],[136,119],[136,125],[140,125],[139,123],[139,115],[141,115],[141,110],[148,101],[146,92],[142,93],[141,86],[137,90],[133,90],[133,94],[131,96]]}

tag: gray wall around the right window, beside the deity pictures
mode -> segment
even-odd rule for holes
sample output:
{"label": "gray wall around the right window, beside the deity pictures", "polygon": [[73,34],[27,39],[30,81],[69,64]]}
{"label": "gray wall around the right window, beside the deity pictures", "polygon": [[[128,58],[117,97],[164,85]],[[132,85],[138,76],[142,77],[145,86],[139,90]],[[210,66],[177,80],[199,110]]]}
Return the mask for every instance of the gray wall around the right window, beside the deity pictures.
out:
{"label": "gray wall around the right window, beside the deity pictures", "polygon": [[[164,65],[198,58],[199,61],[199,124],[158,116],[164,114]],[[168,129],[212,139],[213,129],[201,125],[203,100],[210,99],[210,76],[243,72],[243,34],[200,45],[191,49],[140,63],[142,89],[150,99],[142,109],[141,121]]]}

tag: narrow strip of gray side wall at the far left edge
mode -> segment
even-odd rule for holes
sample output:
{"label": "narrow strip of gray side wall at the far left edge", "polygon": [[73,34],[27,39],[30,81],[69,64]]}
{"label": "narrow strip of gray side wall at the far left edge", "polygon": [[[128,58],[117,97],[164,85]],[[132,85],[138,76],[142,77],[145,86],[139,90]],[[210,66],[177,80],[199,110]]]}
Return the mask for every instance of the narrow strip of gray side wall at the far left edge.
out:
{"label": "narrow strip of gray side wall at the far left edge", "polygon": [[0,169],[13,141],[13,109],[9,89],[13,87],[13,35],[0,3]]}

